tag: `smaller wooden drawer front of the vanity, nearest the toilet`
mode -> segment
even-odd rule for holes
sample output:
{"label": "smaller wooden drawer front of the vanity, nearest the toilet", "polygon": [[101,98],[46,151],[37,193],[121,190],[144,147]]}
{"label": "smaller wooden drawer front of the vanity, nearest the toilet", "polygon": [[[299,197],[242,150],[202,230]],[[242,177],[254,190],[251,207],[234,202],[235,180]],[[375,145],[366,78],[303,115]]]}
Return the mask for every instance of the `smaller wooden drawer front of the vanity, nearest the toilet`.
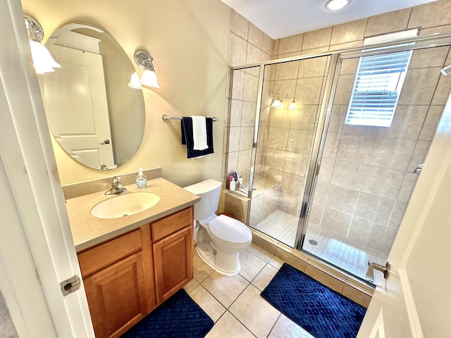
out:
{"label": "smaller wooden drawer front of the vanity, nearest the toilet", "polygon": [[168,217],[157,220],[155,223],[152,223],[152,239],[154,239],[154,242],[157,242],[188,225],[192,225],[192,217],[191,206],[183,211],[173,213]]}

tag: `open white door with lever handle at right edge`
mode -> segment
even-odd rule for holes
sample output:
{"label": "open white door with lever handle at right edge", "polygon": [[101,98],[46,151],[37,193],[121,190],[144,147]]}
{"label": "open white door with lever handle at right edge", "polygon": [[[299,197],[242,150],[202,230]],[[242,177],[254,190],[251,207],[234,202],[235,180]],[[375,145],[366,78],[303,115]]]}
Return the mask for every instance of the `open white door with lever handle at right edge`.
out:
{"label": "open white door with lever handle at right edge", "polygon": [[388,256],[390,275],[379,280],[357,337],[451,337],[450,201],[448,99]]}

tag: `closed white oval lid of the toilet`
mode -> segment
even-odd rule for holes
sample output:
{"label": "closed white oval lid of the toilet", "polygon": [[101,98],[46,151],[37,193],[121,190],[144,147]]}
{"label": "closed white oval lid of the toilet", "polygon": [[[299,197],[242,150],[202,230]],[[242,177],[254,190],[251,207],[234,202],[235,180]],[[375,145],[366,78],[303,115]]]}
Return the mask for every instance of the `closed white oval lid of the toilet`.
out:
{"label": "closed white oval lid of the toilet", "polygon": [[224,242],[245,244],[252,241],[252,232],[239,220],[226,215],[218,215],[209,222],[209,230],[214,237]]}

